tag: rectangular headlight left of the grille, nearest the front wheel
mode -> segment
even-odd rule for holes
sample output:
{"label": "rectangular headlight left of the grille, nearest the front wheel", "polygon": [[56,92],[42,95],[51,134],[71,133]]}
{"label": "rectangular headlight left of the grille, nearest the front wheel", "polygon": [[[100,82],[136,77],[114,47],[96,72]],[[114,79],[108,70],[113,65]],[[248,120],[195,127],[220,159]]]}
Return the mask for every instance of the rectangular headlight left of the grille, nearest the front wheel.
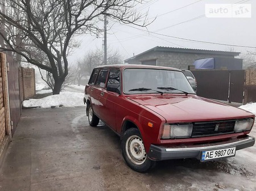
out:
{"label": "rectangular headlight left of the grille, nearest the front wheel", "polygon": [[191,137],[192,124],[164,124],[162,139]]}

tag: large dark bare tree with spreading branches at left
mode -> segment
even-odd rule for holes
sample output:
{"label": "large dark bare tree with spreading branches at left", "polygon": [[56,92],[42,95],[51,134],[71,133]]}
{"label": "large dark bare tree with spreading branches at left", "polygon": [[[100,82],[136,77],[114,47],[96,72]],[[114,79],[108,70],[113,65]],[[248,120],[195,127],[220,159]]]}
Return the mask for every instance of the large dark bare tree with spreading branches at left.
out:
{"label": "large dark bare tree with spreading branches at left", "polygon": [[[68,75],[67,56],[79,45],[76,35],[102,33],[102,18],[145,27],[147,12],[134,6],[141,0],[8,0],[1,1],[1,51],[10,51],[46,70],[53,81],[53,94],[59,94]],[[19,58],[20,56],[20,58]]]}

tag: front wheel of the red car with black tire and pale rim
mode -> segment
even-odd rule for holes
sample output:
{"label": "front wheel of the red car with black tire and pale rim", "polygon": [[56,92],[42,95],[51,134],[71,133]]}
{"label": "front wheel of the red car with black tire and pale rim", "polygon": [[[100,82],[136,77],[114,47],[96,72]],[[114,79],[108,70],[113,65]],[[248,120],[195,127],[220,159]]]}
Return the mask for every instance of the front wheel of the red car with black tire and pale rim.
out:
{"label": "front wheel of the red car with black tire and pale rim", "polygon": [[125,131],[121,141],[122,155],[131,169],[146,172],[155,165],[155,161],[148,159],[141,133],[136,128]]}

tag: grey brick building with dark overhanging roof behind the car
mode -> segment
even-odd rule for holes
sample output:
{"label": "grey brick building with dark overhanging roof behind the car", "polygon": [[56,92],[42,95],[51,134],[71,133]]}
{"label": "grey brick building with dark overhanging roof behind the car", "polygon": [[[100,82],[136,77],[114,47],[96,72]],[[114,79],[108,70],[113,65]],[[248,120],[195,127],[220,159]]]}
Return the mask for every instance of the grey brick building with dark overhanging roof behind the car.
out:
{"label": "grey brick building with dark overhanging roof behind the car", "polygon": [[169,66],[176,67],[178,69],[187,69],[189,65],[193,65],[195,60],[201,58],[234,58],[239,54],[240,52],[155,46],[141,54],[128,58],[125,60],[125,63]]}

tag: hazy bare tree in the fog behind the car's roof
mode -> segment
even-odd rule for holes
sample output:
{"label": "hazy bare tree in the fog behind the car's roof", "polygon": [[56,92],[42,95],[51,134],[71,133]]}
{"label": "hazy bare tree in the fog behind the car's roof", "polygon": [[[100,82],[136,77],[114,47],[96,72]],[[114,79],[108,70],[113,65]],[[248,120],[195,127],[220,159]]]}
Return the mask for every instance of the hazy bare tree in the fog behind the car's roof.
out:
{"label": "hazy bare tree in the fog behind the car's roof", "polygon": [[[107,63],[109,65],[122,64],[123,56],[119,52],[108,48]],[[104,65],[104,52],[101,49],[91,50],[85,54],[84,58],[77,61],[76,79],[80,86],[81,79],[86,75],[90,75],[94,67]]]}

